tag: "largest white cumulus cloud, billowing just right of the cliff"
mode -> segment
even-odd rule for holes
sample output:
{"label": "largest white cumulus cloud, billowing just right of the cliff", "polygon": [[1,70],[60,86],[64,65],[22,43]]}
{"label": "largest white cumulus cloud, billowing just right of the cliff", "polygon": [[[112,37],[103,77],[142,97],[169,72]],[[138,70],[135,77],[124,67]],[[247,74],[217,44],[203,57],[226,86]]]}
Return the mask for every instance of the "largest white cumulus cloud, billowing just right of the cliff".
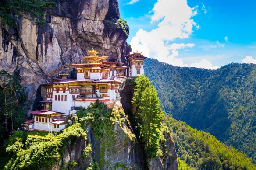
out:
{"label": "largest white cumulus cloud, billowing just right of the cliff", "polygon": [[[158,0],[151,11],[151,23],[156,22],[158,27],[145,31],[139,29],[131,40],[134,51],[143,52],[144,56],[166,62],[173,66],[190,66],[178,57],[179,49],[190,49],[194,43],[173,43],[177,38],[190,38],[194,29],[199,29],[192,17],[199,13],[199,6],[189,7],[187,0]],[[205,9],[205,7],[204,7]],[[207,12],[203,10],[204,13]],[[219,45],[221,45],[219,43]],[[208,60],[207,60],[208,61]],[[205,68],[205,61],[193,63],[193,66]],[[207,62],[207,69],[216,69]]]}

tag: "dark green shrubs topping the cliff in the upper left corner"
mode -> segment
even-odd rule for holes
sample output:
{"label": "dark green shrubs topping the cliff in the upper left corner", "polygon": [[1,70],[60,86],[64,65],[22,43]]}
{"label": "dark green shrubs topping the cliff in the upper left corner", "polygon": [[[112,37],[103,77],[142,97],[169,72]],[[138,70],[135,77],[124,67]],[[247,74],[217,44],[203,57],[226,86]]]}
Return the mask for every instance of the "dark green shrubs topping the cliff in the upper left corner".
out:
{"label": "dark green shrubs topping the cliff in the upper left corner", "polygon": [[0,18],[4,25],[17,27],[15,15],[20,13],[36,17],[39,25],[45,24],[45,14],[55,2],[49,0],[0,0]]}

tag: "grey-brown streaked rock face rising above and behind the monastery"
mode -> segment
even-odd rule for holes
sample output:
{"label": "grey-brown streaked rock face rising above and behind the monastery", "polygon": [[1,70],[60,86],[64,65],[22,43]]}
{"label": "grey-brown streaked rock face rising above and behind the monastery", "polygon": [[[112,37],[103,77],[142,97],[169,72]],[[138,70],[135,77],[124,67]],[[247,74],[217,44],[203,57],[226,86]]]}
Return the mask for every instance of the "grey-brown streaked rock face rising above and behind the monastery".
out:
{"label": "grey-brown streaked rock face rising above and behind the monastery", "polygon": [[81,62],[80,56],[92,47],[111,61],[126,62],[131,52],[126,43],[129,28],[118,22],[117,0],[54,1],[44,26],[21,14],[18,28],[0,28],[0,70],[18,73],[29,98],[65,64]]}

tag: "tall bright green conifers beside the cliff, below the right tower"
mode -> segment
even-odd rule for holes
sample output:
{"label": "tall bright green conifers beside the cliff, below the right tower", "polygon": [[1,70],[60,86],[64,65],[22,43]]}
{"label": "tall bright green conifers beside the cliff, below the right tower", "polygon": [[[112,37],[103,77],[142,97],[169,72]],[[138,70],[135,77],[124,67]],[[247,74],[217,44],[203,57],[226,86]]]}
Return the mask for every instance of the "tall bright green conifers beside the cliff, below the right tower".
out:
{"label": "tall bright green conifers beside the cliff, below the right tower", "polygon": [[146,153],[146,157],[155,158],[162,156],[160,142],[164,141],[162,132],[163,111],[156,89],[144,75],[139,75],[134,80],[134,97],[132,103],[136,109],[137,124],[135,125],[139,142]]}

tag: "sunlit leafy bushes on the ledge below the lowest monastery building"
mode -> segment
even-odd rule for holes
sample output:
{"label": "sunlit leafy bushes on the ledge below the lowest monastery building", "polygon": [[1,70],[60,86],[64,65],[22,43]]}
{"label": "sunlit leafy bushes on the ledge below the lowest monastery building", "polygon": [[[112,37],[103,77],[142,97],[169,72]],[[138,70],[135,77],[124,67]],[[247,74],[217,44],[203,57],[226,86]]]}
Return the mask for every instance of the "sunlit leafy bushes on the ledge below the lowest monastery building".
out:
{"label": "sunlit leafy bushes on the ledge below the lowest monastery building", "polygon": [[[7,142],[6,151],[10,154],[11,160],[5,165],[4,170],[49,169],[64,156],[64,148],[79,137],[86,139],[86,132],[80,123],[75,123],[56,136],[26,137],[25,133],[18,131]],[[68,163],[69,167],[76,165],[73,161]]]}

